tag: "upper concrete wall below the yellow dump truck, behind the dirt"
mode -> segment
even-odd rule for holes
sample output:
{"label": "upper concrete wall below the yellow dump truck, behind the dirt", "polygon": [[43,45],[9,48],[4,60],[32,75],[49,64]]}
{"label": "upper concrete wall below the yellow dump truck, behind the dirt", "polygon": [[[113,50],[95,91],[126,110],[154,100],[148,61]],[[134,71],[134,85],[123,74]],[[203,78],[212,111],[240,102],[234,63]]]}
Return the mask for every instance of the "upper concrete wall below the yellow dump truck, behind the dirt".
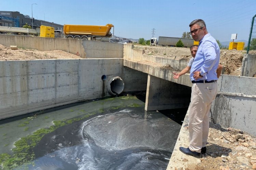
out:
{"label": "upper concrete wall below the yellow dump truck, behind the dirt", "polygon": [[101,41],[0,34],[0,44],[39,51],[62,50],[82,58],[123,58],[123,44]]}

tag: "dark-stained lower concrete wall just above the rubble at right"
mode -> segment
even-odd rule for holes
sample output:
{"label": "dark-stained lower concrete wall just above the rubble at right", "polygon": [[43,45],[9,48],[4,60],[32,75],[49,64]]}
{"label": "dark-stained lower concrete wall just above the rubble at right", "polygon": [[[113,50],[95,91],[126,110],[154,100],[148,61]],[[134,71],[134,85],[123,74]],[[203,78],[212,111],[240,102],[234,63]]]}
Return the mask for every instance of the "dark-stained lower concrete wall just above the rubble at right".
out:
{"label": "dark-stained lower concrete wall just above the rubble at right", "polygon": [[256,96],[219,92],[211,111],[211,122],[256,135]]}

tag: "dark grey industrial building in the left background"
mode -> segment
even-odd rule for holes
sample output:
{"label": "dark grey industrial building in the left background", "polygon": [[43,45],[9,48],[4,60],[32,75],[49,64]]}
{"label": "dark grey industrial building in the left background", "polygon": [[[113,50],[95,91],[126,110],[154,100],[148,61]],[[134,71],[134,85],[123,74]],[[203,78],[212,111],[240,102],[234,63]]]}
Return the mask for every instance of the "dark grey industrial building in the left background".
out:
{"label": "dark grey industrial building in the left background", "polygon": [[[20,28],[26,25],[26,23],[28,23],[28,25],[32,27],[32,17],[29,17],[29,15],[20,14],[18,11],[0,11],[0,15],[12,18],[19,17]],[[0,26],[14,27],[15,24],[12,20],[0,18]],[[63,25],[33,18],[33,29],[39,30],[40,26],[49,26],[54,27],[54,30],[63,30]]]}

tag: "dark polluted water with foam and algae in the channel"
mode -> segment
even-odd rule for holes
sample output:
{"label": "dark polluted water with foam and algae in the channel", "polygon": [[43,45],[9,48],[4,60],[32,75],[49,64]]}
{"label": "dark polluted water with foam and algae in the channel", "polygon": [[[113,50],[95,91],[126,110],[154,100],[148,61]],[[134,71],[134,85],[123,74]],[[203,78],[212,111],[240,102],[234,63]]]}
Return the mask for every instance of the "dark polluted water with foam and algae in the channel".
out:
{"label": "dark polluted water with foam and algae in the channel", "polygon": [[0,121],[0,169],[166,169],[181,125],[135,96]]}

